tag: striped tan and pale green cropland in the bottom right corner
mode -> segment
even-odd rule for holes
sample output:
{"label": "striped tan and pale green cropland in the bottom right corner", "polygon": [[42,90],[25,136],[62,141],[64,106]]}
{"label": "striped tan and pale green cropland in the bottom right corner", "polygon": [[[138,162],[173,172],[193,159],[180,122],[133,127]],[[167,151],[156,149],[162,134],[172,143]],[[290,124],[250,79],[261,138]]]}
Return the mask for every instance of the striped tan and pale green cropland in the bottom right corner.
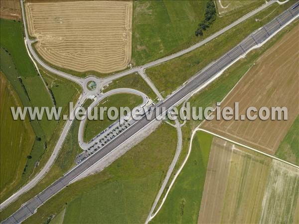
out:
{"label": "striped tan and pale green cropland in the bottom right corner", "polygon": [[295,223],[298,190],[298,169],[214,137],[198,223]]}

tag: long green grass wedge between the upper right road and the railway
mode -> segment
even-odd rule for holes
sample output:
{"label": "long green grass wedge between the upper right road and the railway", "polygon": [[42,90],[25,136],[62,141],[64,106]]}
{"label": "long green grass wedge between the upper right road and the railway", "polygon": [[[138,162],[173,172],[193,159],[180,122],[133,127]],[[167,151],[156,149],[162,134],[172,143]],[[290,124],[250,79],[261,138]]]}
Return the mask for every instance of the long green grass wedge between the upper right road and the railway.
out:
{"label": "long green grass wedge between the upper right road and the railway", "polygon": [[[222,56],[252,31],[266,24],[291,4],[292,2],[281,6],[276,4],[271,5],[256,16],[247,19],[207,44],[163,64],[148,68],[146,71],[149,78],[160,92],[164,91],[162,95],[167,96],[188,78],[195,75],[213,60]],[[267,15],[269,16],[264,18]],[[255,21],[255,18],[264,19]]]}

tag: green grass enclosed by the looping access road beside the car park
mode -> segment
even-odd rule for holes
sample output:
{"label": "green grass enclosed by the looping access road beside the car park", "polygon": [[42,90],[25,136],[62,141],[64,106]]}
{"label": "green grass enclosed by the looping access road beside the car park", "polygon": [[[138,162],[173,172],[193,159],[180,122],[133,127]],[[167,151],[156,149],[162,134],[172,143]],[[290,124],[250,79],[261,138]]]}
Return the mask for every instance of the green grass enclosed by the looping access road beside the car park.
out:
{"label": "green grass enclosed by the looping access road beside the car park", "polygon": [[[142,104],[143,99],[140,96],[133,94],[116,94],[109,96],[98,104],[98,111],[100,107],[107,107],[107,110],[110,107],[129,107],[131,110],[134,107]],[[87,120],[84,127],[84,141],[89,141],[101,131],[105,130],[109,125],[114,123],[116,120],[110,120],[107,116],[107,111],[103,114],[103,120]],[[120,115],[118,116],[120,118]]]}

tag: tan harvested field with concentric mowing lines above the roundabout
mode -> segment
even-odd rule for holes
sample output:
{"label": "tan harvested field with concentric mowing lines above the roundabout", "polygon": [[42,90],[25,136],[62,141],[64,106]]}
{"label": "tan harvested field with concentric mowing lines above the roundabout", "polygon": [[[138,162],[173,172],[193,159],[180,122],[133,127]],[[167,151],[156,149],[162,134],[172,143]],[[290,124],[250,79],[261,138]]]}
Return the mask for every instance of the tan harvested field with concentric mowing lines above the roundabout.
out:
{"label": "tan harvested field with concentric mowing lines above the roundabout", "polygon": [[38,53],[79,72],[127,68],[132,48],[132,1],[29,1],[28,30]]}

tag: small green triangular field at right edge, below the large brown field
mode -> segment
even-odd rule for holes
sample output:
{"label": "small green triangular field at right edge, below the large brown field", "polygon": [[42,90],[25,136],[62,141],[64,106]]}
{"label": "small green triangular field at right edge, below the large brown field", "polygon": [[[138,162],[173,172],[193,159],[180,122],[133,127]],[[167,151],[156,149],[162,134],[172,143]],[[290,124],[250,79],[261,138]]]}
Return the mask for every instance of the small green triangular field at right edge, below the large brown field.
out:
{"label": "small green triangular field at right edge, below the large brown field", "polygon": [[295,119],[275,155],[299,165],[299,116]]}

